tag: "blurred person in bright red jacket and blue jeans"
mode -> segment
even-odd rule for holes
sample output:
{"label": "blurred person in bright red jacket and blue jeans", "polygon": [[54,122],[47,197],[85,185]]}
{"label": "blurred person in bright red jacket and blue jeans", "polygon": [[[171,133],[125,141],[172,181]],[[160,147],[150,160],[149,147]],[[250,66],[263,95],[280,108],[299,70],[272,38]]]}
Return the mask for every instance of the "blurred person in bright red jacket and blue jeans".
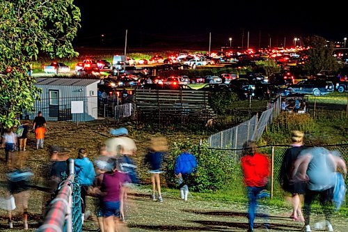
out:
{"label": "blurred person in bright red jacket and blue jeans", "polygon": [[[253,232],[258,199],[269,196],[266,185],[269,178],[270,164],[267,155],[258,153],[258,146],[255,141],[246,141],[243,145],[242,154],[241,164],[244,183],[248,191],[248,232]],[[268,225],[265,224],[265,226]]]}

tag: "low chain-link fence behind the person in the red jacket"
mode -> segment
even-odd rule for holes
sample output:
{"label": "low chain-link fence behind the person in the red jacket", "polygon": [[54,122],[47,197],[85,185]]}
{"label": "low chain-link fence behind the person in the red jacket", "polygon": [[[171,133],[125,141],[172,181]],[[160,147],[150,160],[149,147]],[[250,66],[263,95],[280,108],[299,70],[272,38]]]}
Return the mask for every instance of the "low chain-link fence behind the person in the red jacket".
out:
{"label": "low chain-link fence behind the person in the red jacket", "polygon": [[[279,175],[280,175],[280,167],[283,162],[283,157],[285,154],[285,150],[287,148],[290,148],[290,146],[287,145],[276,145],[276,146],[260,146],[259,150],[261,153],[269,155],[269,160],[271,160],[271,177],[269,178],[269,191],[271,192],[271,196],[276,199],[283,199],[285,196],[285,192],[280,187],[279,183]],[[345,162],[347,164],[348,162],[348,144],[335,144],[335,145],[328,145],[324,146],[324,148],[328,150],[337,150],[342,157],[345,159]],[[243,173],[240,165],[240,157],[242,154],[242,149],[226,149],[226,148],[210,148],[213,150],[219,150],[226,155],[230,155],[230,157],[234,160],[234,166],[237,167],[235,170],[235,173],[233,173],[235,176],[234,179],[234,192],[235,194],[240,194],[242,197],[245,194],[245,186],[243,183]],[[346,180],[346,185],[348,184]],[[236,197],[238,197],[236,195]],[[346,195],[346,201],[342,205],[342,207],[348,209],[348,195]]]}

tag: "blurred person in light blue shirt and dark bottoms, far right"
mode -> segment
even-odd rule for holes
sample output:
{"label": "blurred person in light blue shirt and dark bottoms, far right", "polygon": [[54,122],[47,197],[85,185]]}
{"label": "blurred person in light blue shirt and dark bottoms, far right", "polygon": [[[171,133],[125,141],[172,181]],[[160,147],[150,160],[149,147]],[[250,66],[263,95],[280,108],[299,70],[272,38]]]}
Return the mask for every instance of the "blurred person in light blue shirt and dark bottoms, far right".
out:
{"label": "blurred person in light blue shirt and dark bottoms, far right", "polygon": [[306,232],[310,232],[310,206],[316,196],[319,196],[323,208],[326,227],[333,231],[331,217],[333,215],[333,191],[336,183],[335,171],[341,168],[347,175],[347,167],[342,157],[330,153],[322,147],[303,150],[294,162],[292,177],[294,180],[308,181],[304,199],[304,219]]}

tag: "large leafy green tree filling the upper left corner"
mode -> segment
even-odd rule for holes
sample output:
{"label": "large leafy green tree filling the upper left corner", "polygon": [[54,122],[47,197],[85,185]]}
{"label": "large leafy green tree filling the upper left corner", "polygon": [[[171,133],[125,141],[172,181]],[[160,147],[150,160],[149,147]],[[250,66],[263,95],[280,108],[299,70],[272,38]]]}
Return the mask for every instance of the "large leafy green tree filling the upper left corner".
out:
{"label": "large leafy green tree filling the upper left corner", "polygon": [[[31,61],[39,54],[50,58],[77,56],[80,10],[73,0],[0,1],[0,123],[17,124],[23,110],[32,111],[40,90],[29,76]],[[6,72],[12,68],[11,72]]]}

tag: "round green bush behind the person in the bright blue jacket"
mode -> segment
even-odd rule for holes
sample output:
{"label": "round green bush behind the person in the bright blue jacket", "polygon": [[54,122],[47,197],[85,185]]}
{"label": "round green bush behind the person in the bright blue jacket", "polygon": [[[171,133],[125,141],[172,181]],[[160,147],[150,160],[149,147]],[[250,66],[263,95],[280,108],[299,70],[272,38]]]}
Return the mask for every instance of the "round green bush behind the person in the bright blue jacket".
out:
{"label": "round green bush behind the person in the bright blue jacket", "polygon": [[[176,186],[174,175],[175,159],[182,153],[182,147],[189,147],[189,152],[196,155],[198,167],[189,180],[190,190],[195,192],[214,192],[238,181],[241,176],[239,163],[233,160],[232,155],[222,150],[211,150],[207,144],[191,145],[189,141],[175,143],[168,157],[168,172],[166,183]],[[239,173],[239,174],[236,174]]]}

